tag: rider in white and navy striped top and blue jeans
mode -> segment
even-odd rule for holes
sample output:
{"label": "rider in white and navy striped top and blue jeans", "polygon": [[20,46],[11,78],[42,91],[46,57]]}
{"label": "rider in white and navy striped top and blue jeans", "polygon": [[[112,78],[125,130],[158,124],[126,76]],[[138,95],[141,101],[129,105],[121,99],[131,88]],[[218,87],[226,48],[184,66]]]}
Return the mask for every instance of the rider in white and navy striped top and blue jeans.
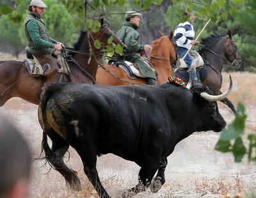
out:
{"label": "rider in white and navy striped top and blue jeans", "polygon": [[[184,16],[186,19],[188,19],[189,15],[187,12],[184,13]],[[177,27],[175,27],[174,31],[174,40],[177,44],[177,54],[180,58],[184,57],[188,49],[191,47],[191,45],[199,45],[198,41],[194,40],[195,31],[193,27],[193,22],[195,20],[195,16],[192,13],[190,13],[189,21],[186,20],[186,22],[180,23]],[[191,66],[191,63],[193,61],[193,57],[188,53],[188,55],[184,58],[185,63],[188,65],[188,69]],[[190,77],[189,73],[189,77]],[[198,80],[196,76],[196,70],[193,72],[193,78],[194,80]]]}

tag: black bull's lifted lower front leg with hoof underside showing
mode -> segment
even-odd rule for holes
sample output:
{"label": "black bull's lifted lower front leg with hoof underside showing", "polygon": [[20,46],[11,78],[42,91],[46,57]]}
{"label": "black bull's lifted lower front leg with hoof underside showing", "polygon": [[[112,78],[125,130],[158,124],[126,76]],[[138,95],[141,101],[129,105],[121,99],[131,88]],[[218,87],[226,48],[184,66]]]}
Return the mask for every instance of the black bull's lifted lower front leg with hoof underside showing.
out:
{"label": "black bull's lifted lower front leg with hoof underside showing", "polygon": [[159,169],[156,175],[156,178],[153,178],[150,184],[150,191],[157,192],[161,189],[162,185],[165,183],[164,171],[167,165],[167,158],[163,158],[160,162]]}

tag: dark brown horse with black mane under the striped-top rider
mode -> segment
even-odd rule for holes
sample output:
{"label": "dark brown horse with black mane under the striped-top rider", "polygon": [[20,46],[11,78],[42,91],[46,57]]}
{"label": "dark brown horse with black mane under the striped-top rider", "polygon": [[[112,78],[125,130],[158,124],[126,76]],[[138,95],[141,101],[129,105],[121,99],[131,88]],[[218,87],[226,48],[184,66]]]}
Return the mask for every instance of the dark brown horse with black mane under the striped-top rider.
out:
{"label": "dark brown horse with black mane under the striped-top rider", "polygon": [[[239,57],[237,52],[236,42],[232,38],[231,32],[228,31],[228,35],[215,33],[207,38],[203,38],[201,44],[204,46],[200,50],[200,54],[204,58],[205,68],[198,70],[199,76],[202,84],[208,86],[212,94],[220,95],[223,64],[230,64],[232,66],[239,66],[241,64],[241,57]],[[186,71],[182,72],[178,70],[175,73],[180,79],[188,81],[184,74],[188,76]],[[228,98],[221,100],[221,102],[228,105],[236,114],[236,109]]]}

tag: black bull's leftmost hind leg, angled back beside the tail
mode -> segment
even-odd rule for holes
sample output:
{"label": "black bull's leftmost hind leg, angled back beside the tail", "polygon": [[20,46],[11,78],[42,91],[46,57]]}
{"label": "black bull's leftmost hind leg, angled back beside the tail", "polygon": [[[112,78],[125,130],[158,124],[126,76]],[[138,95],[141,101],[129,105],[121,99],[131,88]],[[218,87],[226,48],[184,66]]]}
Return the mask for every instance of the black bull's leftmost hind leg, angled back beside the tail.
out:
{"label": "black bull's leftmost hind leg, angled back beside the tail", "polygon": [[[47,135],[51,138],[52,149],[47,144]],[[65,142],[58,133],[53,129],[44,132],[42,141],[42,148],[45,151],[45,157],[53,165],[56,171],[65,178],[66,183],[72,190],[81,190],[81,182],[79,178],[74,174],[74,171],[70,170],[63,162],[63,156],[68,150],[69,145]]]}

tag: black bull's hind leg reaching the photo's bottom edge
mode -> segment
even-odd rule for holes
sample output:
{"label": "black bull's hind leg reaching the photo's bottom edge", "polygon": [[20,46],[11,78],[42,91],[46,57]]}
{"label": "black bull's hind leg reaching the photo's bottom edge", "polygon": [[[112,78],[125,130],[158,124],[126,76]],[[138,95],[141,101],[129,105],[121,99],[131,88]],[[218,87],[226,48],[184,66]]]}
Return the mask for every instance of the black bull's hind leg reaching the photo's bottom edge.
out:
{"label": "black bull's hind leg reaching the photo's bottom edge", "polygon": [[71,144],[71,146],[76,149],[77,153],[81,157],[84,165],[84,173],[92,183],[99,196],[101,198],[110,198],[100,182],[96,169],[97,155],[96,152],[93,151],[95,145],[93,146],[92,142],[86,140],[88,140],[88,137],[86,137],[86,139],[79,137],[79,140],[74,141],[74,144]]}

